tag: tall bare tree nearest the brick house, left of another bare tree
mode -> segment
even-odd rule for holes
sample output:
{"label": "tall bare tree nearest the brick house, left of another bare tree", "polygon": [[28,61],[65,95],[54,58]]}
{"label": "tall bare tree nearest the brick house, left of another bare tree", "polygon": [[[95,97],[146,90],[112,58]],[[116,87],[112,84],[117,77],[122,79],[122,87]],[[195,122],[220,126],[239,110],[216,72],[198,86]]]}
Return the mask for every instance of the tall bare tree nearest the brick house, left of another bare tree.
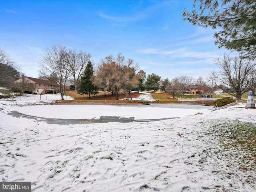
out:
{"label": "tall bare tree nearest the brick house, left of another bare tree", "polygon": [[54,76],[57,76],[61,100],[64,100],[66,83],[70,77],[67,59],[68,52],[66,47],[63,45],[54,45],[51,49],[47,48],[45,50],[42,62],[40,62],[41,74],[45,74],[45,76],[54,74]]}

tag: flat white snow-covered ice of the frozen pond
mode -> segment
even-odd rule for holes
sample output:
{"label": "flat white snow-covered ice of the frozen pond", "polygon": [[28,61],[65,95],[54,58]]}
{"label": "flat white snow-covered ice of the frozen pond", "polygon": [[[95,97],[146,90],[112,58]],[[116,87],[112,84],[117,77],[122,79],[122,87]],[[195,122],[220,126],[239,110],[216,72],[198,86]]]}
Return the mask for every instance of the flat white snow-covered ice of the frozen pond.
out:
{"label": "flat white snow-covered ice of the frozen pond", "polygon": [[[68,110],[67,110],[68,108]],[[200,105],[38,105],[10,107],[8,112],[55,119],[100,119],[102,116],[153,120],[207,113],[212,106]]]}

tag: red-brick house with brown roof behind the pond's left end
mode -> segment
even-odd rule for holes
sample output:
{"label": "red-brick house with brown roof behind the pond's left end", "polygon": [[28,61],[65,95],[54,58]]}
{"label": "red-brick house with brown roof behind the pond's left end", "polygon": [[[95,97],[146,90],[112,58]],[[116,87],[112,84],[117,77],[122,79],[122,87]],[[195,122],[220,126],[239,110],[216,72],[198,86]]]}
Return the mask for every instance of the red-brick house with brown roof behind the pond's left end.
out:
{"label": "red-brick house with brown roof behind the pond's left end", "polygon": [[57,93],[59,85],[47,80],[22,76],[19,80],[14,81],[14,86],[22,88],[22,92],[29,91],[32,94]]}

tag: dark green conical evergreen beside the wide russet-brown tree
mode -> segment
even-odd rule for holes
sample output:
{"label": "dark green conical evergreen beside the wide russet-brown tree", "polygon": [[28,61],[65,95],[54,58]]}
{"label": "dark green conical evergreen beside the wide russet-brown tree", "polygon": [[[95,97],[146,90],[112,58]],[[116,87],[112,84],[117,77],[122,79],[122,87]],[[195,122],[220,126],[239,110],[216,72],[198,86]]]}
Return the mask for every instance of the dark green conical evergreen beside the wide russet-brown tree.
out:
{"label": "dark green conical evergreen beside the wide russet-brown tree", "polygon": [[98,88],[94,84],[95,74],[92,62],[88,61],[84,73],[78,81],[77,92],[81,95],[95,95],[98,93]]}

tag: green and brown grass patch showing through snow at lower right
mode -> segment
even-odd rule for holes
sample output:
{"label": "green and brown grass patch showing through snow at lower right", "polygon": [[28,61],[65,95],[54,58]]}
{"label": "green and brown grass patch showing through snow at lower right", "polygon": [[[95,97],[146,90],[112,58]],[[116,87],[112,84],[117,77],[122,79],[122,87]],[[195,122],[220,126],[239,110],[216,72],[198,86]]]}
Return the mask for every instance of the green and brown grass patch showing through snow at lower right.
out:
{"label": "green and brown grass patch showing through snow at lower right", "polygon": [[227,122],[212,129],[223,150],[215,151],[241,170],[256,171],[256,124],[250,122]]}

